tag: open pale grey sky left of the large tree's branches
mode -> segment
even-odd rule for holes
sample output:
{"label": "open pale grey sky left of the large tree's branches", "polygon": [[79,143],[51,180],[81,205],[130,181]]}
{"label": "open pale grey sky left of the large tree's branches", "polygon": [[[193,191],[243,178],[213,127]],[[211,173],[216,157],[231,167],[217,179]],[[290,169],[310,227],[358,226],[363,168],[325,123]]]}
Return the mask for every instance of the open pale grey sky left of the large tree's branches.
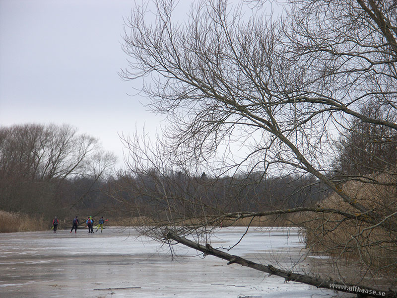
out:
{"label": "open pale grey sky left of the large tree's branches", "polygon": [[[132,0],[0,0],[0,125],[75,126],[122,155],[118,133],[159,118],[139,104],[121,49]],[[120,157],[121,158],[121,157]]]}

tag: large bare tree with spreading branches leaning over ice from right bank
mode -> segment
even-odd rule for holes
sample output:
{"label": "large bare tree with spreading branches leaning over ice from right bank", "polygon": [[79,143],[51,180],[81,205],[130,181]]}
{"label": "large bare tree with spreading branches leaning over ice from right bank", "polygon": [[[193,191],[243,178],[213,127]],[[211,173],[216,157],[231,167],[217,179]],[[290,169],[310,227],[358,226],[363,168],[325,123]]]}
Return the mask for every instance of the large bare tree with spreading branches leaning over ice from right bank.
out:
{"label": "large bare tree with spreading branches leaning over ice from right bank", "polygon": [[[307,229],[309,249],[362,262],[366,273],[358,274],[358,281],[339,276],[339,283],[362,283],[369,272],[373,280],[390,277],[388,285],[395,286],[395,160],[374,159],[367,162],[373,170],[345,172],[343,179],[333,165],[348,142],[340,134],[357,124],[381,131],[386,147],[395,148],[396,1],[289,0],[277,19],[266,18],[266,1],[248,2],[261,4],[256,14],[244,15],[244,4],[202,1],[181,24],[173,1],[158,0],[153,23],[147,7],[136,7],[128,20],[124,50],[131,60],[122,76],[143,79],[148,106],[169,117],[156,146],[139,136],[124,137],[134,183],[149,170],[156,173],[149,197],[159,203],[154,212],[164,217],[145,213],[157,222],[150,232],[183,242],[181,236],[207,232],[221,220],[295,214],[290,220]],[[374,102],[382,113],[366,112]],[[360,133],[378,138],[371,130]],[[355,167],[366,158],[347,157]],[[172,171],[191,176],[205,171],[218,181],[241,172],[261,178],[310,175],[334,194],[318,206],[229,212],[206,199],[217,195],[203,183],[191,191],[181,181],[183,195],[176,192],[169,185]],[[145,181],[134,188],[134,198],[147,197]],[[363,188],[367,192],[358,191]],[[195,212],[181,209],[183,204]],[[141,204],[131,206],[142,210]],[[335,238],[332,232],[339,228],[351,237]],[[386,264],[376,264],[374,251],[388,253]],[[323,278],[315,285],[330,283]]]}

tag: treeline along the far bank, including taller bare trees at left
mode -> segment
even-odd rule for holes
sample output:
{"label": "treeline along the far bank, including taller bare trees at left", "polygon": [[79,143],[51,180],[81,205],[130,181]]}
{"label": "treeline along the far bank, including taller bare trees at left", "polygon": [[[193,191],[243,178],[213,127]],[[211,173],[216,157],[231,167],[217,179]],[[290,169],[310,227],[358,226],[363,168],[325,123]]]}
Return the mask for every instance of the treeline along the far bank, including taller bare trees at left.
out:
{"label": "treeline along the far bank, including taller bare trees at left", "polygon": [[[0,210],[46,221],[54,216],[71,221],[76,215],[131,218],[156,208],[161,217],[159,185],[184,201],[199,196],[212,206],[206,211],[210,213],[216,212],[213,206],[222,212],[310,206],[327,192],[307,176],[264,179],[263,173],[254,173],[215,178],[172,171],[165,176],[155,170],[132,176],[115,171],[115,162],[116,157],[104,151],[98,140],[79,135],[68,125],[1,127]],[[184,210],[183,205],[180,211],[195,212]]]}

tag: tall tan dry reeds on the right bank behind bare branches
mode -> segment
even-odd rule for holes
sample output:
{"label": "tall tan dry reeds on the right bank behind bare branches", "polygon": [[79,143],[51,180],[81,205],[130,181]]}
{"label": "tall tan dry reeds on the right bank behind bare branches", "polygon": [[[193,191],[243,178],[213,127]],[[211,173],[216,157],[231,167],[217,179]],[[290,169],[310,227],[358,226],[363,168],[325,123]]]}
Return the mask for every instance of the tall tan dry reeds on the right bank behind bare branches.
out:
{"label": "tall tan dry reeds on the right bank behind bare branches", "polygon": [[[387,182],[385,177],[382,180]],[[343,191],[382,218],[397,211],[396,186],[350,181],[343,185]],[[358,215],[336,194],[320,202],[320,207]],[[312,252],[350,261],[357,270],[360,267],[367,271],[371,278],[397,275],[397,233],[385,226],[375,227],[335,214],[301,214],[296,222],[306,227],[307,247]],[[397,219],[392,217],[385,223],[396,226]]]}

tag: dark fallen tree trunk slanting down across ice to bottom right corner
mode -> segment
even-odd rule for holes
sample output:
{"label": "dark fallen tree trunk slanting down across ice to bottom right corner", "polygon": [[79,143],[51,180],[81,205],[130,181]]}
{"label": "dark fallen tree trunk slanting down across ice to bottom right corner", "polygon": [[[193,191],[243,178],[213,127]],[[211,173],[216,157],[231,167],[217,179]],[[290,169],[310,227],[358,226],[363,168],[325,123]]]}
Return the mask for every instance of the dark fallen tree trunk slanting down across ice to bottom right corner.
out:
{"label": "dark fallen tree trunk slanting down across ice to bottom right corner", "polygon": [[169,229],[165,230],[164,237],[167,240],[174,240],[174,241],[177,241],[183,245],[197,249],[197,250],[203,252],[204,256],[213,255],[215,257],[227,260],[227,261],[229,261],[227,263],[228,265],[233,264],[233,263],[240,264],[242,266],[246,266],[246,267],[250,267],[250,268],[253,268],[253,269],[256,269],[259,271],[266,272],[270,275],[276,275],[279,277],[283,277],[285,279],[285,281],[293,281],[293,282],[303,283],[303,284],[307,284],[307,285],[312,285],[317,288],[330,289],[330,290],[339,291],[339,292],[357,294],[357,297],[397,298],[397,292],[392,291],[392,290],[381,291],[378,289],[373,289],[373,288],[368,288],[368,287],[345,285],[345,284],[336,283],[330,279],[322,279],[320,277],[312,277],[309,275],[293,273],[291,271],[275,268],[272,265],[266,266],[266,265],[258,264],[258,263],[246,260],[244,258],[228,254],[228,253],[221,251],[219,249],[215,249],[215,248],[211,247],[209,244],[206,244],[205,246],[201,245],[201,244],[191,241],[187,238],[181,237]]}

